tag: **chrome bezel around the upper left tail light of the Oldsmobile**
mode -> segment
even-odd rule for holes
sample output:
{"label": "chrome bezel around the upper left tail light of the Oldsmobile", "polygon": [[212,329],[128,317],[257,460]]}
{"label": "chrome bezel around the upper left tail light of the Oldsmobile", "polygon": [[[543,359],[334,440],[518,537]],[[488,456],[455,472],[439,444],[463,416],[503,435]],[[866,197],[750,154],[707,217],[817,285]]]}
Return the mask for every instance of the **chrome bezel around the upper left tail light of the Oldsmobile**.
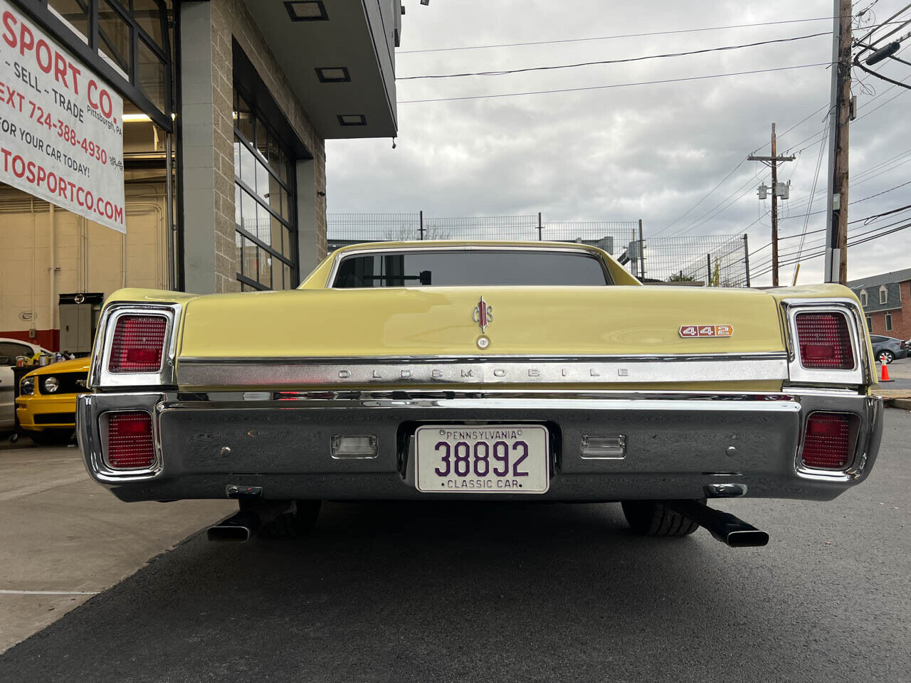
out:
{"label": "chrome bezel around the upper left tail light of the Oldsmobile", "polygon": [[[179,303],[123,302],[107,306],[101,314],[88,369],[88,387],[91,389],[122,389],[124,387],[175,386],[177,336],[181,305]],[[121,316],[158,315],[167,320],[165,343],[158,370],[148,372],[111,372],[110,356],[114,332]]]}

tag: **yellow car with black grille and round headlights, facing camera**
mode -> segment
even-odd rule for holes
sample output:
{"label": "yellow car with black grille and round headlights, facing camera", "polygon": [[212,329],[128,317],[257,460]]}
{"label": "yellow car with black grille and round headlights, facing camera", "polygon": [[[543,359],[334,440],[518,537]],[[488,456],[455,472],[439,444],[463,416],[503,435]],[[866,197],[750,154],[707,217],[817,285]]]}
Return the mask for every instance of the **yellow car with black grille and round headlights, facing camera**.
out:
{"label": "yellow car with black grille and round headlights, facing camera", "polygon": [[76,427],[76,397],[87,392],[89,358],[59,361],[29,372],[19,381],[15,417],[32,441],[67,443]]}

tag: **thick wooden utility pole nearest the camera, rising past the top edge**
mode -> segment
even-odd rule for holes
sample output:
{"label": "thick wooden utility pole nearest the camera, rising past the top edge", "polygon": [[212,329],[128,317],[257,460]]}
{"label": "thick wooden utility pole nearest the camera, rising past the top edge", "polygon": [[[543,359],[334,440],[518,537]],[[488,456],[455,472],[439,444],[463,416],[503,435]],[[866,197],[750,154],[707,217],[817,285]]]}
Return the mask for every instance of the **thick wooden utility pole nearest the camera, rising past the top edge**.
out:
{"label": "thick wooden utility pole nearest the camera, rising past the top edge", "polygon": [[825,281],[848,280],[848,127],[851,120],[851,0],[834,0],[832,105],[829,108],[829,192]]}

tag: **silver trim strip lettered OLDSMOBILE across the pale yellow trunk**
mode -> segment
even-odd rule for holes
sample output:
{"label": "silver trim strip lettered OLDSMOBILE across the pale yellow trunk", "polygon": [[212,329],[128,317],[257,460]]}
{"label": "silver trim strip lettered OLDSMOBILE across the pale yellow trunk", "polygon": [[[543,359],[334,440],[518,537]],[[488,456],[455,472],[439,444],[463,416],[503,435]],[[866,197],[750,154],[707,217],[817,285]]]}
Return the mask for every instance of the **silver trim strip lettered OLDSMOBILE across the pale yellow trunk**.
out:
{"label": "silver trim strip lettered OLDSMOBILE across the pale yellow trunk", "polygon": [[786,380],[787,355],[539,356],[414,359],[180,358],[181,389],[210,386],[598,384]]}

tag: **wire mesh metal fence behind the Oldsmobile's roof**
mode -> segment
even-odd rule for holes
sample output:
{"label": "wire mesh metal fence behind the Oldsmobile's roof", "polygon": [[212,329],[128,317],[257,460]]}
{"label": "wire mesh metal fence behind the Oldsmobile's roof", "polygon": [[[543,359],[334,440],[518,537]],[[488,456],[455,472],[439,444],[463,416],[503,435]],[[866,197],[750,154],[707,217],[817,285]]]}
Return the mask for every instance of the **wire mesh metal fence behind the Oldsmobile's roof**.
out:
{"label": "wire mesh metal fence behind the Oldsmobile's roof", "polygon": [[397,240],[548,240],[607,251],[646,282],[749,287],[746,235],[642,237],[642,221],[545,221],[541,214],[429,218],[417,213],[330,213],[329,250]]}

